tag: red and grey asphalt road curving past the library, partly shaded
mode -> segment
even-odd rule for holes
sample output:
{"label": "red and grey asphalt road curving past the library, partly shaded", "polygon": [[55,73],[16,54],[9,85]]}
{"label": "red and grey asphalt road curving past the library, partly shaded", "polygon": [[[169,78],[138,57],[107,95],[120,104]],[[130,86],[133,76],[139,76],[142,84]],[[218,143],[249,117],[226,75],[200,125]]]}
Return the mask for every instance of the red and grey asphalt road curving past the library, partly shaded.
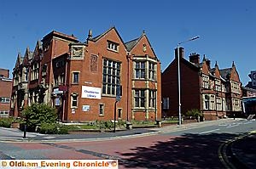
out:
{"label": "red and grey asphalt road curving past the library, partly shaded", "polygon": [[[236,120],[162,127],[149,134],[76,142],[1,142],[1,159],[118,159],[119,168],[224,168],[218,147],[256,130],[256,121]],[[2,135],[3,131],[0,131]],[[146,132],[141,131],[141,132]],[[5,136],[10,133],[6,132]],[[18,136],[19,132],[16,133]],[[30,133],[29,133],[30,134]],[[105,135],[111,133],[104,133]],[[13,137],[10,134],[10,137]],[[38,135],[31,135],[37,138]],[[40,136],[49,137],[49,136]],[[72,137],[70,135],[69,137]]]}

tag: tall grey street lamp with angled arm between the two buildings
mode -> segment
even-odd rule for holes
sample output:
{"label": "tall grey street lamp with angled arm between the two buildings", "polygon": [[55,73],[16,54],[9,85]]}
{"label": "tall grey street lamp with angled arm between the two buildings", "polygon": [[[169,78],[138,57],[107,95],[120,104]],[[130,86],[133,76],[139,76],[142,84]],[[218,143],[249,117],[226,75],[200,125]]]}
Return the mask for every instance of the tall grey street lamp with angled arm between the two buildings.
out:
{"label": "tall grey street lamp with angled arm between the two buildings", "polygon": [[179,42],[177,43],[177,91],[178,91],[178,125],[181,125],[181,101],[180,101],[180,63],[179,63],[179,46],[180,44],[184,42],[194,41],[195,39],[198,39],[197,37],[192,37],[188,39],[187,41]]}

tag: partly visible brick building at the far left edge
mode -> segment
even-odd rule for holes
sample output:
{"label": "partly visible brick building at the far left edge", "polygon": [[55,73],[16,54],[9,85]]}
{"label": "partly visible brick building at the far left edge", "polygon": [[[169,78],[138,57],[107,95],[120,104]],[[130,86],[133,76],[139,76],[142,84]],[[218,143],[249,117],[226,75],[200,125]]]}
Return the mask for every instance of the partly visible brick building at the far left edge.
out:
{"label": "partly visible brick building at the far left edge", "polygon": [[12,79],[9,78],[9,70],[0,68],[0,118],[9,117],[11,92]]}

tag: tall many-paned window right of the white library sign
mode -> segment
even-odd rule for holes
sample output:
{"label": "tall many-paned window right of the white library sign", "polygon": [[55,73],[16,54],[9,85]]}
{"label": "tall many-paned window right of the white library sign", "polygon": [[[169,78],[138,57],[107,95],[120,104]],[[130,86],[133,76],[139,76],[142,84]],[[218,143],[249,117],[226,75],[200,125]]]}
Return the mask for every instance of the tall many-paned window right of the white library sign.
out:
{"label": "tall many-paned window right of the white library sign", "polygon": [[120,62],[110,59],[103,60],[103,94],[116,95],[117,87],[120,85],[120,69]]}

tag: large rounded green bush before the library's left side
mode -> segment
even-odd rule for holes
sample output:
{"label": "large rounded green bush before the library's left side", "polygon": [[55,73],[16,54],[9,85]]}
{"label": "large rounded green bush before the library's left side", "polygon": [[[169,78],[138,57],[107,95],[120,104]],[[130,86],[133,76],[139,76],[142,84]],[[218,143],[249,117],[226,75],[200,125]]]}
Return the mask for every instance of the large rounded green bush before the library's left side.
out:
{"label": "large rounded green bush before the library's left side", "polygon": [[28,131],[35,131],[35,128],[42,123],[55,123],[57,120],[55,108],[47,104],[36,103],[27,106],[26,109],[21,112],[21,115],[25,118],[24,122],[26,122]]}

